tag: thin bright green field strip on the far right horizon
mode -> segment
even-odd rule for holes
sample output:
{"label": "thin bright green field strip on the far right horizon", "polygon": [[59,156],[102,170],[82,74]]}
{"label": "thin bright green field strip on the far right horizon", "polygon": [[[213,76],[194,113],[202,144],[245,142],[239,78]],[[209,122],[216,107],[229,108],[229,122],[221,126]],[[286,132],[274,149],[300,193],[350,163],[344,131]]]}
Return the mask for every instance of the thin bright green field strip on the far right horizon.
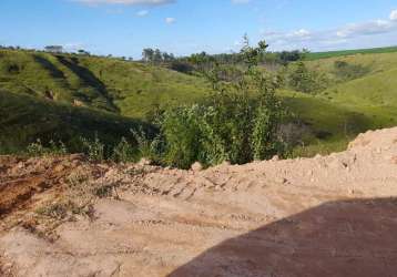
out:
{"label": "thin bright green field strip on the far right horizon", "polygon": [[395,52],[397,52],[397,47],[313,52],[307,54],[306,60],[319,60],[319,59],[328,59],[328,58],[355,55],[355,54],[379,54],[379,53],[395,53]]}

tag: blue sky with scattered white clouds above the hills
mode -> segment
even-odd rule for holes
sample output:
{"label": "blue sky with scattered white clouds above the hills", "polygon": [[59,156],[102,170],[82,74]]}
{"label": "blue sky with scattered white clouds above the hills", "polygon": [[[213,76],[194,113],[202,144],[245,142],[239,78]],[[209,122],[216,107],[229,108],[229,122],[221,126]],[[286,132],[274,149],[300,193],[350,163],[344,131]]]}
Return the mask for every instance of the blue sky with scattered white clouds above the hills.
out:
{"label": "blue sky with scattered white clouds above the hills", "polygon": [[397,0],[0,0],[0,44],[141,58],[397,45]]}

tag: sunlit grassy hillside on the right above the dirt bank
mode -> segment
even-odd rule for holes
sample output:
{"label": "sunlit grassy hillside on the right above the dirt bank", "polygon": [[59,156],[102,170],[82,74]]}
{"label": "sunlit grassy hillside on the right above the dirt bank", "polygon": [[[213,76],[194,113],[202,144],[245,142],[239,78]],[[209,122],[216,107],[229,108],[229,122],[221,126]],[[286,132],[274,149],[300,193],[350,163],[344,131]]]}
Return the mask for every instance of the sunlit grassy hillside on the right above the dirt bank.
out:
{"label": "sunlit grassy hillside on the right above the dirt bank", "polygon": [[[363,65],[368,73],[355,80],[337,81],[335,61]],[[293,110],[305,120],[312,119],[314,130],[322,126],[333,135],[326,140],[314,137],[305,150],[307,153],[301,151],[298,154],[342,150],[359,132],[397,125],[397,53],[333,57],[307,61],[306,64],[312,70],[326,73],[335,82],[318,96],[298,96],[301,100],[295,100],[297,103],[293,104]],[[306,99],[303,101],[302,98]]]}

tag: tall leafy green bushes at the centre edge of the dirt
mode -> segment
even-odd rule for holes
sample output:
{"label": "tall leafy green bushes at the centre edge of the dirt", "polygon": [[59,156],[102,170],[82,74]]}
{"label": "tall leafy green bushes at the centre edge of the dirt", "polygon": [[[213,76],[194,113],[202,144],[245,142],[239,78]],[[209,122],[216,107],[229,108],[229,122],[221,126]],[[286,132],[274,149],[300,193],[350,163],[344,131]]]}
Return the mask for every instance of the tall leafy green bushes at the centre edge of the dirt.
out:
{"label": "tall leafy green bushes at the centre edge of the dirt", "polygon": [[[282,151],[277,130],[283,109],[275,95],[277,80],[257,68],[267,44],[241,52],[245,69],[227,82],[217,63],[206,72],[214,92],[203,103],[169,110],[161,121],[165,140],[164,162],[187,168],[196,161],[215,165],[223,161],[247,163]],[[206,59],[197,58],[198,64]]]}

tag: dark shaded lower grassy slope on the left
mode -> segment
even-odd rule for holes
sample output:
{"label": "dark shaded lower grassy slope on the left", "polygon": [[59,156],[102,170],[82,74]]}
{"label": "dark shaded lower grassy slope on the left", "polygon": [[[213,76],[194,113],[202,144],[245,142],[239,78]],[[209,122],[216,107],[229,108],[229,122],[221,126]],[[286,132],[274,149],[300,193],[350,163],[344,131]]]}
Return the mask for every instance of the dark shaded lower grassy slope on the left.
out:
{"label": "dark shaded lower grassy slope on the left", "polygon": [[86,107],[41,100],[0,91],[0,152],[19,151],[40,137],[43,142],[61,140],[71,148],[81,136],[94,133],[114,144],[130,137],[131,129],[149,127],[140,121]]}

